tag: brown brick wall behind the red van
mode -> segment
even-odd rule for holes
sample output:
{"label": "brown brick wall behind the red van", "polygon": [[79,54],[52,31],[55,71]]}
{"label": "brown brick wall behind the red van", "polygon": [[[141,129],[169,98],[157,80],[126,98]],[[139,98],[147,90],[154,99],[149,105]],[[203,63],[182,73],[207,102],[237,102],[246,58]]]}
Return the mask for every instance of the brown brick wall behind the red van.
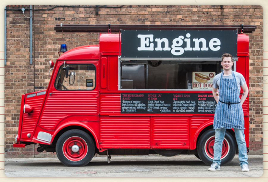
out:
{"label": "brown brick wall behind the red van", "polygon": [[[8,6],[19,9],[22,6]],[[29,8],[29,6],[24,6]],[[7,10],[7,65],[5,66],[5,157],[54,157],[38,153],[37,146],[12,148],[18,131],[21,95],[47,89],[48,60],[58,58],[60,44],[68,49],[98,44],[98,33],[56,33],[55,24],[186,24],[256,25],[250,38],[250,154],[263,153],[263,9],[261,6],[151,6],[124,5],[121,8],[34,6],[34,60],[30,65],[29,18],[22,11]],[[115,6],[113,6],[115,7]],[[26,16],[29,11],[25,11]],[[35,152],[34,152],[35,151]]]}

